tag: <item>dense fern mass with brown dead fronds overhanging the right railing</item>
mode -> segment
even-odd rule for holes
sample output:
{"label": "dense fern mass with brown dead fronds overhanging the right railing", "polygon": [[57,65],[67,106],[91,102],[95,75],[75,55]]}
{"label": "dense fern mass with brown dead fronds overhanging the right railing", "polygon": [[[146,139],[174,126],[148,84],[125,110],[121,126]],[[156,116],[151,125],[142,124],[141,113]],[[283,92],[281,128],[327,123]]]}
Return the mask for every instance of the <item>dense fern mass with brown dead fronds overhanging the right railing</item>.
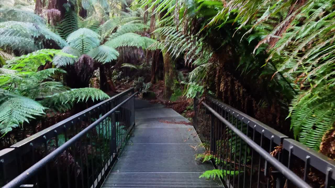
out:
{"label": "dense fern mass with brown dead fronds overhanging the right railing", "polygon": [[155,45],[194,67],[189,90],[203,83],[209,93],[246,112],[250,105],[270,109],[274,124],[289,118],[294,137],[316,150],[333,131],[333,1],[139,3],[161,18]]}

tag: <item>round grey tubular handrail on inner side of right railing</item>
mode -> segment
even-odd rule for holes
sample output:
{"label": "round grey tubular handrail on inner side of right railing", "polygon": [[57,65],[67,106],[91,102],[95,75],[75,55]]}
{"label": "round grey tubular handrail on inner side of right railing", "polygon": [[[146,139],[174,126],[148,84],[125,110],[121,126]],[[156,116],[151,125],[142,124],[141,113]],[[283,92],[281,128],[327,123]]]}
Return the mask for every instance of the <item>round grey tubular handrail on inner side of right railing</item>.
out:
{"label": "round grey tubular handrail on inner side of right railing", "polygon": [[216,118],[228,126],[233,132],[235,132],[240,138],[242,138],[250,147],[258,152],[266,161],[272,164],[279,172],[281,172],[287,179],[289,179],[294,185],[302,188],[312,188],[308,183],[300,179],[296,174],[290,171],[287,167],[281,164],[277,159],[267,153],[263,148],[258,146],[252,139],[241,132],[238,128],[229,123],[225,118],[218,114],[214,109],[209,107],[205,102],[201,102]]}

